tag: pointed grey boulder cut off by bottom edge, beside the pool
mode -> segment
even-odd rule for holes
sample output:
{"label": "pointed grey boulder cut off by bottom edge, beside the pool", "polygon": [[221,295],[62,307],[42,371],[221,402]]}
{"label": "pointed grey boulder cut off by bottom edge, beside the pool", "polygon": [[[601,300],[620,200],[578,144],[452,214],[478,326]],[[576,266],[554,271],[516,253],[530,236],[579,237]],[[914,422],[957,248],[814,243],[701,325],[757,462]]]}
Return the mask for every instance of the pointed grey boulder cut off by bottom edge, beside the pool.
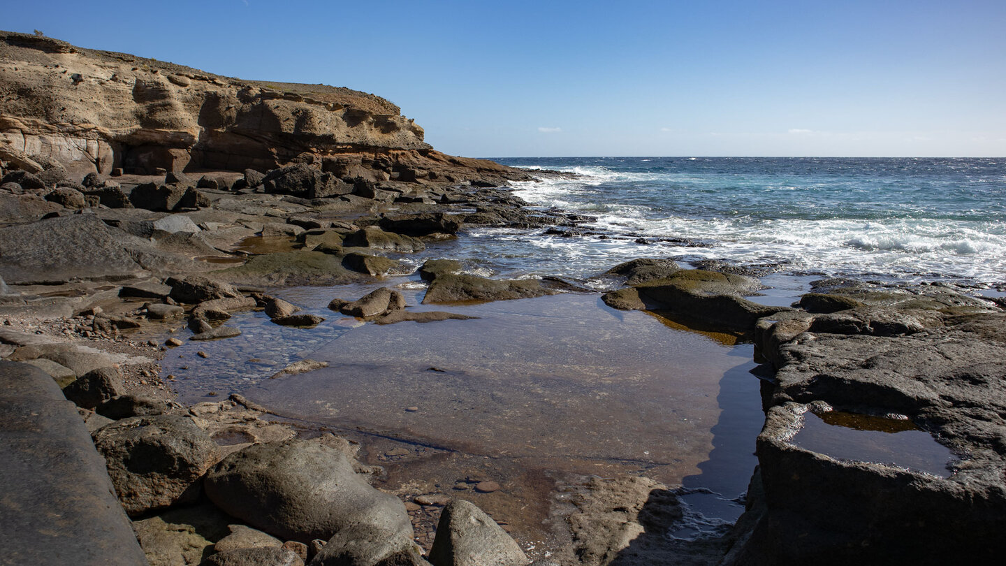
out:
{"label": "pointed grey boulder cut off by bottom edge, beside the pool", "polygon": [[441,512],[430,562],[434,566],[524,566],[530,560],[482,510],[464,500],[453,500]]}

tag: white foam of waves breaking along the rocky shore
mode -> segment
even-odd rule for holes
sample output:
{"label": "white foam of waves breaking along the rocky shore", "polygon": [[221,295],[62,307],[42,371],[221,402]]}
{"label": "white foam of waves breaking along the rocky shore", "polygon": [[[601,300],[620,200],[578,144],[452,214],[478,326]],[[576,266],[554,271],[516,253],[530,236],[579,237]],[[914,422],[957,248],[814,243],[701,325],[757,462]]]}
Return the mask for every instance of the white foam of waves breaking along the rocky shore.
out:
{"label": "white foam of waves breaking along the rocky shore", "polygon": [[[626,238],[683,239],[710,244],[684,248],[672,244],[641,248],[632,240],[582,238],[522,240],[560,265],[580,263],[584,271],[631,256],[685,256],[729,259],[743,264],[782,263],[793,270],[824,273],[880,273],[894,276],[947,276],[986,282],[1003,281],[1006,273],[1006,227],[994,223],[948,222],[942,219],[754,219],[659,216],[650,206],[597,198],[606,183],[627,187],[697,182],[696,177],[666,173],[618,172],[603,166],[567,167],[576,178],[545,178],[513,183],[526,200],[598,217],[586,226]],[[766,190],[802,190],[778,186]],[[627,188],[628,190],[628,188]],[[628,196],[628,193],[627,193]],[[626,200],[631,200],[626,198]],[[805,208],[813,209],[813,202]],[[585,263],[584,263],[585,262]]]}

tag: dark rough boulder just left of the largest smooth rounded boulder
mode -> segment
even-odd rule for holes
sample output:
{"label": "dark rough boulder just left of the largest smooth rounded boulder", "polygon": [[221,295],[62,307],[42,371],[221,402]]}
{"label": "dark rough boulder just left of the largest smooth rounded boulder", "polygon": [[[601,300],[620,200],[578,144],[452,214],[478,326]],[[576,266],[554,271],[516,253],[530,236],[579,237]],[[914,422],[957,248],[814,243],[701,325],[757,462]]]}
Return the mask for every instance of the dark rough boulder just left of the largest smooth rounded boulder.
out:
{"label": "dark rough boulder just left of the largest smooth rounded boulder", "polygon": [[94,439],[131,517],[194,503],[199,479],[216,457],[216,443],[178,415],[123,419],[96,431]]}

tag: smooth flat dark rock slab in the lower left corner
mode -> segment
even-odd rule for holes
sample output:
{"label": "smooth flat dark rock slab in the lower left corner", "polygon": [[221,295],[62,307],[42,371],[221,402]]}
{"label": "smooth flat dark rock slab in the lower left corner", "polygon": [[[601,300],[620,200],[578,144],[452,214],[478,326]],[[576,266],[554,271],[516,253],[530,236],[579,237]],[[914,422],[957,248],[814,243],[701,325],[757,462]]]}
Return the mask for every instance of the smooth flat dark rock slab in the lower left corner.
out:
{"label": "smooth flat dark rock slab in the lower left corner", "polygon": [[105,460],[52,378],[0,362],[5,564],[146,565]]}

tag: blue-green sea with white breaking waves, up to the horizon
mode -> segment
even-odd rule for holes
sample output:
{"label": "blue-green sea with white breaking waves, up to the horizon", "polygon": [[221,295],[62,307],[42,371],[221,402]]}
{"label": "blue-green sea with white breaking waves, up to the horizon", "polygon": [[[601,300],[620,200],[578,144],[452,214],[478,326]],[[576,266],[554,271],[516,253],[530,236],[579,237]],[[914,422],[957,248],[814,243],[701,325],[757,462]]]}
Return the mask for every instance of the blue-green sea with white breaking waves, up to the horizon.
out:
{"label": "blue-green sea with white breaking waves, up to the horizon", "polygon": [[585,277],[666,256],[788,274],[1006,282],[1006,158],[495,160],[577,173],[513,185],[534,205],[597,217],[584,225],[595,234],[571,238],[476,231],[475,253],[495,272]]}

